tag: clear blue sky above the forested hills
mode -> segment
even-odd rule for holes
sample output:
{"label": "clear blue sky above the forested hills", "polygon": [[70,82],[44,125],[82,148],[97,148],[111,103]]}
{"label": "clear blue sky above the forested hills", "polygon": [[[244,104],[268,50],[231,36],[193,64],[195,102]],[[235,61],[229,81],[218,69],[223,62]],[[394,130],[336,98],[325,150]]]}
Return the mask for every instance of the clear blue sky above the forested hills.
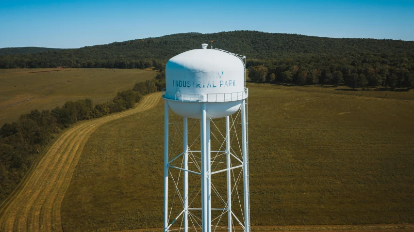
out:
{"label": "clear blue sky above the forested hills", "polygon": [[414,0],[0,0],[0,23],[0,47],[234,30],[414,40]]}

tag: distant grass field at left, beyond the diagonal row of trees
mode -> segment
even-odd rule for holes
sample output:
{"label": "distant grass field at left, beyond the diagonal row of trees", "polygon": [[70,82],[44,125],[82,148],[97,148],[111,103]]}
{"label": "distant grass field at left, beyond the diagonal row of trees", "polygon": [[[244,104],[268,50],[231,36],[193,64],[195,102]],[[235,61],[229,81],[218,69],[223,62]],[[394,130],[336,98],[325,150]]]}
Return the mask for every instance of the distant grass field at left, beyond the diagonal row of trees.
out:
{"label": "distant grass field at left, beyond the diagonal row of trees", "polygon": [[22,113],[55,108],[69,100],[106,102],[118,91],[155,76],[156,72],[141,69],[0,69],[0,126]]}

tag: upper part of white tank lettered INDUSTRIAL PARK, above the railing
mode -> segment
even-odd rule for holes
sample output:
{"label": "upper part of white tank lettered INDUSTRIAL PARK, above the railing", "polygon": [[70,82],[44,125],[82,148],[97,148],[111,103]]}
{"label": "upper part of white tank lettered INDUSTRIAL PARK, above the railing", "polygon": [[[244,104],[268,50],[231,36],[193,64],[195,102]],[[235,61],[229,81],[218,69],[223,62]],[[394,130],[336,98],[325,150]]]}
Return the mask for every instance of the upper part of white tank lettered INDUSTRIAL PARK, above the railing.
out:
{"label": "upper part of white tank lettered INDUSTRIAL PARK, above the railing", "polygon": [[166,91],[180,93],[232,93],[244,89],[244,64],[227,52],[194,49],[166,64]]}

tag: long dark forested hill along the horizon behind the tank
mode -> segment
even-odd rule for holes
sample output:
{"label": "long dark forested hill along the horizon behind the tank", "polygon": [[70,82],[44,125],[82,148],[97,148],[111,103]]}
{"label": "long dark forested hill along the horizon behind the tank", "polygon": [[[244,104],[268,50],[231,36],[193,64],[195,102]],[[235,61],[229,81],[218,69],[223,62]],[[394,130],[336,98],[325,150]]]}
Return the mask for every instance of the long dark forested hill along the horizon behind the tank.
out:
{"label": "long dark forested hill along the horizon behind the tank", "polygon": [[307,54],[330,57],[346,54],[414,56],[414,41],[335,39],[259,31],[192,32],[77,49],[5,55],[0,56],[0,68],[142,68],[151,65],[152,60],[165,62],[183,51],[201,48],[202,43],[209,43],[211,39],[214,40],[213,47],[246,55],[248,59],[285,59]]}

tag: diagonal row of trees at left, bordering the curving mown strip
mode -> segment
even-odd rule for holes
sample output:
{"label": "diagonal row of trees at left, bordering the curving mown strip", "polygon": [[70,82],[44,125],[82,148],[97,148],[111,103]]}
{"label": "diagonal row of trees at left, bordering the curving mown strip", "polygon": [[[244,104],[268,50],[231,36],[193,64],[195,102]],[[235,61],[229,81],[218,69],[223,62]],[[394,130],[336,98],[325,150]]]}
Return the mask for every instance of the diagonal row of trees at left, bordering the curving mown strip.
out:
{"label": "diagonal row of trees at left, bordering the curving mown strip", "polygon": [[22,180],[50,141],[72,124],[132,108],[143,95],[165,88],[163,72],[153,80],[136,83],[132,90],[118,92],[112,101],[94,104],[91,99],[67,101],[51,110],[37,109],[20,115],[0,129],[0,202]]}

